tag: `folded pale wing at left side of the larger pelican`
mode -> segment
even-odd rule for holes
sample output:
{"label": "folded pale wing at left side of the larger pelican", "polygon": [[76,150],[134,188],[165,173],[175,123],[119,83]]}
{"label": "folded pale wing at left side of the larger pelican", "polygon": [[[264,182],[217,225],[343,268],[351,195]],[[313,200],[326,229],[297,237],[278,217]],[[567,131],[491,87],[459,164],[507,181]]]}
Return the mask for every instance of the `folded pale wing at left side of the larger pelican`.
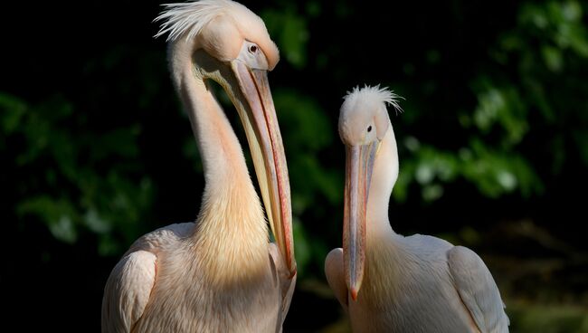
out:
{"label": "folded pale wing at left side of the larger pelican", "polygon": [[156,278],[156,255],[130,252],[114,267],[102,299],[102,332],[130,332],[147,306]]}

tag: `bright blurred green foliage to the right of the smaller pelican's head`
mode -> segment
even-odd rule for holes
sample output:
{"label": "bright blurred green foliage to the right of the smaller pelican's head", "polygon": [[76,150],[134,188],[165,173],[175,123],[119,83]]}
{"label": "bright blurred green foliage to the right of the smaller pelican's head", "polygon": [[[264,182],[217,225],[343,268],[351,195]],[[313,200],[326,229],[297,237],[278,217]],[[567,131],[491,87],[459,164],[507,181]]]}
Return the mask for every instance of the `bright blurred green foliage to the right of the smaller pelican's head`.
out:
{"label": "bright blurred green foliage to the right of the smaller pelican's head", "polygon": [[[584,22],[578,2],[521,5],[516,28],[500,33],[488,48],[493,63],[470,81],[478,102],[458,113],[462,132],[454,133],[463,138],[463,146],[445,151],[407,138],[404,145],[415,158],[404,162],[395,198],[405,199],[406,187],[416,182],[425,201],[436,200],[457,176],[491,198],[513,191],[526,198],[541,195],[544,182],[524,147],[529,140],[541,140],[554,153],[555,158],[544,161],[552,175],[561,172],[565,154],[579,153],[588,166],[583,134],[588,104],[579,95],[588,89],[583,80],[588,58]],[[565,80],[554,84],[554,74]],[[551,134],[536,138],[531,127]],[[562,147],[568,141],[572,152]]]}

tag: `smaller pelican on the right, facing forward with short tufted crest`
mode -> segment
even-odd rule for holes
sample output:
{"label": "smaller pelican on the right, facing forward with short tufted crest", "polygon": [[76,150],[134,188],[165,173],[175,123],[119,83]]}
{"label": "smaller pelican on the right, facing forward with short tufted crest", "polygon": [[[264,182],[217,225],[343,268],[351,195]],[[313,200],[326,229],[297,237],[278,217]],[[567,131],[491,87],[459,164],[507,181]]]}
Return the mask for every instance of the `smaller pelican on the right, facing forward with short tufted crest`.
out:
{"label": "smaller pelican on the right, facing forward with short tufted crest", "polygon": [[508,318],[479,256],[439,238],[394,233],[388,202],[398,153],[389,90],[349,92],[339,115],[346,147],[343,249],[328,253],[327,281],[356,332],[507,332]]}

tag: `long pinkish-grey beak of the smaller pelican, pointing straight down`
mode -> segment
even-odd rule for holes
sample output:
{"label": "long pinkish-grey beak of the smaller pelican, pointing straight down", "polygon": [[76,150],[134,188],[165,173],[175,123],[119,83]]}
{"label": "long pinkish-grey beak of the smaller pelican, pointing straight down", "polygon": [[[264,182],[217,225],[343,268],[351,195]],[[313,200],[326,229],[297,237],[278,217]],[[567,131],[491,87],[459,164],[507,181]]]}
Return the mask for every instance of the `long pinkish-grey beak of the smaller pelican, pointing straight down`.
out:
{"label": "long pinkish-grey beak of the smaller pelican, pointing straight down", "polygon": [[343,256],[347,290],[357,300],[365,269],[365,220],[369,186],[379,142],[346,146]]}

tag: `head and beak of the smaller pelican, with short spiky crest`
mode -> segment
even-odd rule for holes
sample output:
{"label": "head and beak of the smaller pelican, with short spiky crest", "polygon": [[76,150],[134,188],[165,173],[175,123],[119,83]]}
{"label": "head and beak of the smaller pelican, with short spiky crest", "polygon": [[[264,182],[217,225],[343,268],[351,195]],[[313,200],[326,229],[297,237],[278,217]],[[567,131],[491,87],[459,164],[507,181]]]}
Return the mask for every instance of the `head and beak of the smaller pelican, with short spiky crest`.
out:
{"label": "head and beak of the smaller pelican, with short spiky crest", "polygon": [[400,109],[396,97],[379,86],[355,88],[347,93],[339,114],[339,136],[346,147],[344,268],[353,300],[364,278],[366,206],[372,173],[384,137],[392,130],[386,105]]}

